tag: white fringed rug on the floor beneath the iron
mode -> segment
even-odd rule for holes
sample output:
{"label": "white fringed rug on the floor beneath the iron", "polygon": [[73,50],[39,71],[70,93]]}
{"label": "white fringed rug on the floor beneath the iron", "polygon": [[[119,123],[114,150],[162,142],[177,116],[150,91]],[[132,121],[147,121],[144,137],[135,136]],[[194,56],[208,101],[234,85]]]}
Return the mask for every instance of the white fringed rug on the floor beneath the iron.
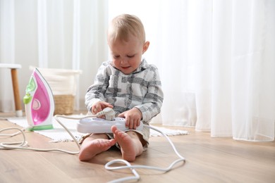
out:
{"label": "white fringed rug on the floor beneath the iron", "polygon": [[[84,115],[70,115],[71,117],[83,117]],[[25,117],[20,117],[20,118],[6,118],[6,120],[15,123],[16,125],[19,125],[20,127],[27,127],[27,120]],[[77,120],[71,120],[71,119],[66,119],[66,118],[59,118],[59,120],[62,122],[64,126],[70,130],[70,132],[73,134],[73,136],[76,139],[81,139],[81,137],[84,135],[82,133],[77,132],[76,130],[76,124]],[[50,142],[59,142],[59,141],[73,141],[73,138],[66,132],[65,129],[61,125],[59,125],[59,122],[57,122],[53,118],[53,125],[54,129],[51,130],[35,130],[34,132],[38,134],[42,134],[45,137],[49,137],[51,139]],[[155,126],[154,126],[155,127]],[[161,130],[161,132],[164,132],[166,135],[184,135],[188,134],[188,131],[185,130],[170,130],[164,127],[155,127],[158,130]],[[150,136],[151,137],[157,137],[161,136],[161,134],[155,130],[150,129]]]}

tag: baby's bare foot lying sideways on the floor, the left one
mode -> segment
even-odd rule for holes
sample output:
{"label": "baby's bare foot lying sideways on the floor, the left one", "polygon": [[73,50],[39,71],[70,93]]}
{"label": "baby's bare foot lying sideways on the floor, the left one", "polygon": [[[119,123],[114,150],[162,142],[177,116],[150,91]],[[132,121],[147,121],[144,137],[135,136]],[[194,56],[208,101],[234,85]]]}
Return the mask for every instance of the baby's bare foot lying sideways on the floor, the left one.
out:
{"label": "baby's bare foot lying sideways on the floor, the left one", "polygon": [[91,160],[99,153],[107,151],[114,146],[116,141],[114,139],[93,139],[83,143],[79,152],[79,160]]}

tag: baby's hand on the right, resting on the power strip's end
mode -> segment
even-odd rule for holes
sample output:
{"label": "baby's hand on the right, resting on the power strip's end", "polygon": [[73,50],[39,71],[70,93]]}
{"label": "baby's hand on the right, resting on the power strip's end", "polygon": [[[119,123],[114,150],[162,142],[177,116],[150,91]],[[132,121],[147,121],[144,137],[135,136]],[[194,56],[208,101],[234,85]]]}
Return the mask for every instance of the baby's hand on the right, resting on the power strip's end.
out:
{"label": "baby's hand on the right, resting on the power strip's end", "polygon": [[129,111],[125,111],[118,115],[118,117],[126,119],[126,127],[129,129],[136,129],[140,125],[142,119],[142,113],[138,108],[132,108]]}

